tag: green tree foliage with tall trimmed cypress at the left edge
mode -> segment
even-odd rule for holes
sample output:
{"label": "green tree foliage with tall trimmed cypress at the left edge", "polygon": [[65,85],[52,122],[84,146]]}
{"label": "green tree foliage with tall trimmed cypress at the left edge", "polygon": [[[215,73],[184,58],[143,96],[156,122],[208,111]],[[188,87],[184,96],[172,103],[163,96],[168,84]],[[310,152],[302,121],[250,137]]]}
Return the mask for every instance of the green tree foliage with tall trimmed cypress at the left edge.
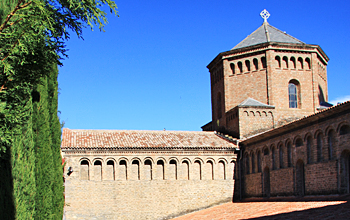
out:
{"label": "green tree foliage with tall trimmed cypress at the left edge", "polygon": [[62,219],[57,65],[70,33],[103,30],[112,0],[0,1],[1,219]]}

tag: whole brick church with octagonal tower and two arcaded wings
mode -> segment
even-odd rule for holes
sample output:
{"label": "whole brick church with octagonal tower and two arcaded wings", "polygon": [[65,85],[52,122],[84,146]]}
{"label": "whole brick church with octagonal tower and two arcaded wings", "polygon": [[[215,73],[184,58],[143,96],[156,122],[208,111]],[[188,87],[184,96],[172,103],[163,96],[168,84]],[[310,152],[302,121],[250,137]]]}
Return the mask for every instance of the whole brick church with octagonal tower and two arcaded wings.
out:
{"label": "whole brick church with octagonal tower and two arcaded wings", "polygon": [[66,219],[171,219],[247,197],[350,192],[350,102],[329,58],[267,22],[207,66],[201,132],[64,128]]}

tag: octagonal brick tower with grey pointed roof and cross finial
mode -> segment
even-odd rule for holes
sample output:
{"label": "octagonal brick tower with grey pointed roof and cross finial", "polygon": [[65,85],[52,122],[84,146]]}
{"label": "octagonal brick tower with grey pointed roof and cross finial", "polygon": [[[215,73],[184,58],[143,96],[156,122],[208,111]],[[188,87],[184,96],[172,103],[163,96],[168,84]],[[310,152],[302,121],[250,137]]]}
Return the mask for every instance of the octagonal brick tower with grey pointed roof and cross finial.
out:
{"label": "octagonal brick tower with grey pointed roof and cross finial", "polygon": [[212,122],[237,138],[281,126],[329,107],[327,63],[320,46],[306,44],[267,22],[207,66]]}

